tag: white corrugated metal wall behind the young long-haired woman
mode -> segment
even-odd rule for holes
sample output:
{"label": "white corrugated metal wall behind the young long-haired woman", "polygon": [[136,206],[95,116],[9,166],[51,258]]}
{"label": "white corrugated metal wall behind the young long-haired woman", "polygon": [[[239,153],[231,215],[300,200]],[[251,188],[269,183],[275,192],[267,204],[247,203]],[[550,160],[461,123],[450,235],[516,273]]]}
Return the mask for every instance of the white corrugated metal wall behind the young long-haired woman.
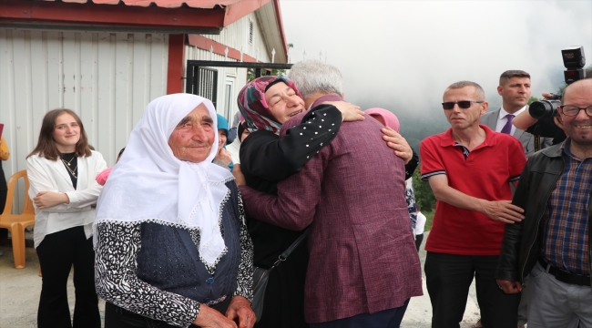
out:
{"label": "white corrugated metal wall behind the young long-haired woman", "polygon": [[148,102],[166,94],[168,35],[0,28],[0,123],[11,157],[26,169],[47,111],[70,108],[107,165]]}

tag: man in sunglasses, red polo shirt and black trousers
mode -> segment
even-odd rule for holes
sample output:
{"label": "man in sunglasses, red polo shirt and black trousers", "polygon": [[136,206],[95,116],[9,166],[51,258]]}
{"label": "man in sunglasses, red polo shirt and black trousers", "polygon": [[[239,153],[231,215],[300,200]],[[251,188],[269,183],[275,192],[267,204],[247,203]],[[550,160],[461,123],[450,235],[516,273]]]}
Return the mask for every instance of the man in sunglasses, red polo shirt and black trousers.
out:
{"label": "man in sunglasses, red polo shirt and black trousers", "polygon": [[499,290],[494,273],[505,223],[524,219],[510,203],[510,184],[517,184],[526,156],[517,138],[479,125],[488,104],[475,82],[446,88],[442,106],[451,128],[424,138],[420,149],[422,179],[438,200],[425,244],[432,327],[459,326],[475,277],[483,325],[515,328],[520,295]]}

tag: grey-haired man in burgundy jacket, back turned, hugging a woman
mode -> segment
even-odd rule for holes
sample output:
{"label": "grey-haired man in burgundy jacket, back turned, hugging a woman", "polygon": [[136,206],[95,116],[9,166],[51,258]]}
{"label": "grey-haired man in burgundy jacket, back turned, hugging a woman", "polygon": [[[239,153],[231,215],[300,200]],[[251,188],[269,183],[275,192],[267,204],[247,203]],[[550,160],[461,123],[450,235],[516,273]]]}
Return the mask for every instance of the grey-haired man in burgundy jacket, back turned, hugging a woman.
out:
{"label": "grey-haired man in burgundy jacket, back turned, hugging a woman", "polygon": [[[290,78],[306,107],[341,99],[335,67],[301,62]],[[280,136],[302,115],[284,123]],[[322,116],[309,122],[332,129]],[[381,128],[369,117],[343,122],[330,145],[278,183],[277,195],[252,190],[237,177],[251,216],[293,231],[311,226],[304,296],[311,328],[399,327],[409,299],[423,293],[403,159],[383,142]]]}

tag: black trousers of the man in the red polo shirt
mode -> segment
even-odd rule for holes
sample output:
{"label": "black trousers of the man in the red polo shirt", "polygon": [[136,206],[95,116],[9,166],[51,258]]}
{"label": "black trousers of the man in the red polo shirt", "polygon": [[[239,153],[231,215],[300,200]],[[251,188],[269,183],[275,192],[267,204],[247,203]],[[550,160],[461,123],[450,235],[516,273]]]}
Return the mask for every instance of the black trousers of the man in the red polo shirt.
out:
{"label": "black trousers of the man in the red polo shirt", "polygon": [[481,323],[485,328],[515,328],[520,294],[499,289],[494,274],[499,256],[427,252],[425,278],[432,302],[433,328],[458,328],[463,321],[469,286],[475,277]]}

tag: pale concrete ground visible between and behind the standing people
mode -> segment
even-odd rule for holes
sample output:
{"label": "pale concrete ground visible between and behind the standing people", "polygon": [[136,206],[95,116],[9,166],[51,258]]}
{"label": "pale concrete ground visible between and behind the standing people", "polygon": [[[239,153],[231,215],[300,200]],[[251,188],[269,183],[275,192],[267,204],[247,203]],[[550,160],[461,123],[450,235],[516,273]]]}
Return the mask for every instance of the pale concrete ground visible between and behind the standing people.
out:
{"label": "pale concrete ground visible between and behind the standing people", "polygon": [[[427,237],[427,236],[426,236]],[[426,238],[424,238],[424,241]],[[36,327],[37,305],[41,291],[41,278],[38,276],[39,261],[33,248],[26,249],[26,268],[15,269],[12,247],[9,244],[0,246],[4,255],[0,256],[0,328],[33,328]],[[424,245],[420,250],[422,265],[425,261]],[[68,281],[68,302],[70,311],[74,311],[74,285],[72,274]],[[99,301],[101,317],[105,302]],[[475,287],[466,302],[462,328],[471,327],[479,319],[479,308],[476,305]],[[403,318],[403,328],[429,328],[432,320],[432,306],[425,289],[424,296],[414,297]]]}

